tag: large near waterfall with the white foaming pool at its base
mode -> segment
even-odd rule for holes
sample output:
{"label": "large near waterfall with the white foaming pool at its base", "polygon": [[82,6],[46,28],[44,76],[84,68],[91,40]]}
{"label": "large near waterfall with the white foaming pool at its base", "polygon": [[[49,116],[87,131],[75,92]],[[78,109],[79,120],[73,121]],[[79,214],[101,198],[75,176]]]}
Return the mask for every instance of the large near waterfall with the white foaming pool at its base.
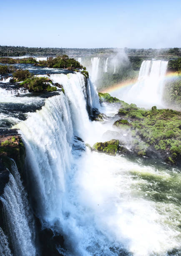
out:
{"label": "large near waterfall with the white foaming pool at its base", "polygon": [[105,125],[88,120],[81,74],[51,79],[63,84],[65,95],[47,99],[42,110],[17,125],[42,222],[63,233],[70,255],[121,255],[125,249],[134,256],[166,256],[178,248],[177,207],[149,200],[149,191],[141,189],[146,180],[133,176],[168,179],[167,171],[73,149],[73,135],[94,143]]}

